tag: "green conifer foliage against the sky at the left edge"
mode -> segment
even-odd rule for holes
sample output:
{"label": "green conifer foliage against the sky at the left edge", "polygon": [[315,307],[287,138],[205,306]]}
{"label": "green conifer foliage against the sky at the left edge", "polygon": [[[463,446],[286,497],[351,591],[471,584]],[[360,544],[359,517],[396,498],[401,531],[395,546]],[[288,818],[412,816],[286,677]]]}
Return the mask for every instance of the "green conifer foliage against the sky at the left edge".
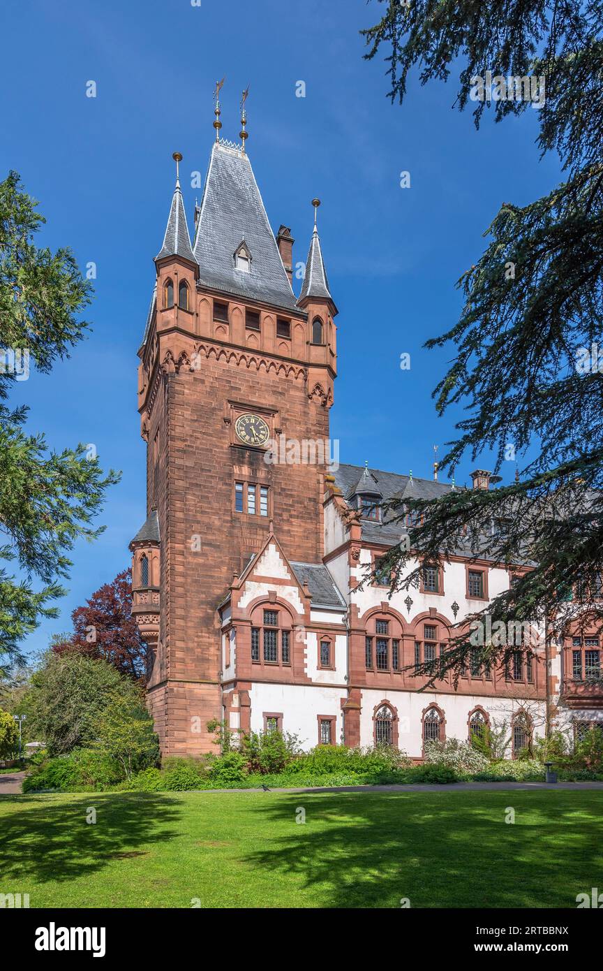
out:
{"label": "green conifer foliage against the sky at the left edge", "polygon": [[[0,659],[21,659],[18,642],[43,618],[56,617],[52,601],[64,594],[60,580],[72,565],[67,553],[80,537],[92,540],[108,485],[98,458],[85,445],[48,452],[43,435],[23,430],[27,408],[4,402],[13,382],[39,371],[81,340],[88,324],[79,313],[90,302],[73,253],[37,249],[32,240],[45,219],[11,172],[0,183],[0,559],[16,562],[16,581],[0,568]],[[42,588],[34,590],[37,579]]]}

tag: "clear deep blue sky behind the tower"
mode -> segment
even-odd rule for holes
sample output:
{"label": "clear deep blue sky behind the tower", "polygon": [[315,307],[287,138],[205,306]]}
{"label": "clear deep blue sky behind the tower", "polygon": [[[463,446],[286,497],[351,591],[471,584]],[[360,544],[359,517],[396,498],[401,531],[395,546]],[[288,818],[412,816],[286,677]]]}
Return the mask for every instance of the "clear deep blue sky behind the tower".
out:
{"label": "clear deep blue sky behind the tower", "polygon": [[[476,132],[452,110],[456,81],[421,87],[392,105],[387,65],[364,61],[359,34],[384,10],[372,0],[22,0],[5,5],[2,178],[16,169],[48,224],[40,245],[70,246],[97,265],[89,337],[48,376],[16,384],[29,427],[51,448],[96,446],[122,470],[100,521],[107,530],[74,551],[60,619],[29,651],[70,628],[70,614],[129,563],[144,519],[144,443],[136,410],[137,349],[174,186],[181,174],[189,227],[191,172],[205,177],[212,86],[222,91],[226,138],[238,140],[240,91],[250,85],[247,149],[270,222],[292,227],[304,260],[318,195],[323,252],[339,309],[338,378],[331,433],[340,460],[430,477],[453,417],[430,397],[451,351],[430,336],[460,312],[455,283],[485,248],[502,202],[524,205],[559,181],[555,157],[539,160],[538,114]],[[97,84],[96,98],[85,96]],[[305,97],[296,84],[305,83]],[[401,171],[410,188],[399,186]],[[297,284],[299,286],[299,283]],[[409,352],[411,368],[399,367]],[[505,463],[505,481],[515,466]],[[468,481],[472,465],[457,471]]]}

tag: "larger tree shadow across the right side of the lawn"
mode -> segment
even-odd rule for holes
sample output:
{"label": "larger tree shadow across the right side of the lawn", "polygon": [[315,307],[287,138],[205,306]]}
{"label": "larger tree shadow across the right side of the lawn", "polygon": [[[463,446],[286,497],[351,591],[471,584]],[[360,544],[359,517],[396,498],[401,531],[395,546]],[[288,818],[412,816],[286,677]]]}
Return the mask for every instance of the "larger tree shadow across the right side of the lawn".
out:
{"label": "larger tree shadow across the right side of the lawn", "polygon": [[317,906],[573,908],[600,881],[602,806],[596,793],[296,793],[254,807],[291,830],[245,858],[301,876]]}

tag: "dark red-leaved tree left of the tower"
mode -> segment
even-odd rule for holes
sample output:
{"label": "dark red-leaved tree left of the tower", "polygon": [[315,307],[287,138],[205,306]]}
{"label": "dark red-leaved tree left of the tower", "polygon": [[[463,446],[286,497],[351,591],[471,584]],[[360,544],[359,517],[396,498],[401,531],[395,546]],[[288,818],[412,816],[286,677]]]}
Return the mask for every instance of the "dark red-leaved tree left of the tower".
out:
{"label": "dark red-leaved tree left of the tower", "polygon": [[72,614],[75,633],[55,639],[55,653],[79,651],[102,658],[121,674],[143,679],[146,649],[132,616],[132,572],[123,570]]}

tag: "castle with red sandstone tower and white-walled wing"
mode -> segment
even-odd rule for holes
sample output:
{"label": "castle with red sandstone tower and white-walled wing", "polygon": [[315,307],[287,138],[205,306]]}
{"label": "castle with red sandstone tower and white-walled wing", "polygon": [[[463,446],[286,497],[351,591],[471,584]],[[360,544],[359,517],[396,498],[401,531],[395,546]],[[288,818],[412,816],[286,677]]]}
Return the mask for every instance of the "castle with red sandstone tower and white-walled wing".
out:
{"label": "castle with red sandstone tower and white-walled wing", "polygon": [[443,651],[514,571],[458,555],[424,564],[410,592],[390,596],[378,569],[362,583],[400,538],[380,504],[454,485],[328,464],[337,308],[318,200],[296,296],[291,230],[274,236],[244,144],[216,137],[192,242],[176,175],[139,350],[147,519],[130,545],[133,610],[163,753],[214,751],[210,720],[415,759],[485,725],[506,722],[517,755],[547,720],[579,734],[603,721],[595,634],[419,690],[408,665]]}

